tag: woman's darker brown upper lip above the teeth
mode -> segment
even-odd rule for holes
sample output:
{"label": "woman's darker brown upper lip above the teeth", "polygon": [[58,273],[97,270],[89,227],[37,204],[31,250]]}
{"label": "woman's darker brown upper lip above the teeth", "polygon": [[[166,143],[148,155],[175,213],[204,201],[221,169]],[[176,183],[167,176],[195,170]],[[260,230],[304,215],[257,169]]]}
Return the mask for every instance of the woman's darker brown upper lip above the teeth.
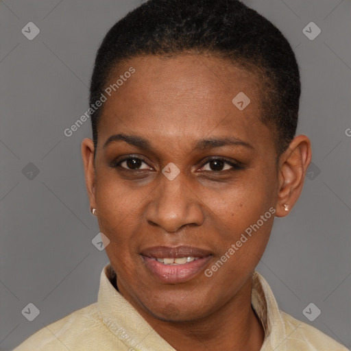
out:
{"label": "woman's darker brown upper lip above the teeth", "polygon": [[152,258],[179,258],[179,257],[205,257],[211,254],[210,251],[192,246],[154,246],[148,247],[141,252],[143,256]]}

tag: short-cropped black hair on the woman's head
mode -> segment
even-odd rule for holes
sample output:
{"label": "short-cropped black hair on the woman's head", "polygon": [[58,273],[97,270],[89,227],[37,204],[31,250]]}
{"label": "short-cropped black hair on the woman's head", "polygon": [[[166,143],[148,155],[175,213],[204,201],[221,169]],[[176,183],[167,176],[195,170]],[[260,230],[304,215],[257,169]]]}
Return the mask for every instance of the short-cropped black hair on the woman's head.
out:
{"label": "short-cropped black hair on the woman's head", "polygon": [[[119,63],[137,56],[211,54],[258,73],[261,121],[274,134],[278,156],[295,136],[301,93],[291,45],[270,21],[239,0],[149,0],[106,34],[90,82],[90,105]],[[101,108],[91,114],[93,141]]]}

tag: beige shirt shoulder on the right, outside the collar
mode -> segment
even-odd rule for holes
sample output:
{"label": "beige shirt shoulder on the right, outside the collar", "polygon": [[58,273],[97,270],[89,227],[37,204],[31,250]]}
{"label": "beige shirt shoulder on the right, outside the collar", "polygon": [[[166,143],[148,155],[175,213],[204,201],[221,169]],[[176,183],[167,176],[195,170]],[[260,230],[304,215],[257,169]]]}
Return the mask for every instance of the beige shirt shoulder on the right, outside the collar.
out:
{"label": "beige shirt shoulder on the right, outside the collar", "polygon": [[317,328],[280,311],[287,331],[287,350],[301,351],[348,351],[348,348],[328,337]]}

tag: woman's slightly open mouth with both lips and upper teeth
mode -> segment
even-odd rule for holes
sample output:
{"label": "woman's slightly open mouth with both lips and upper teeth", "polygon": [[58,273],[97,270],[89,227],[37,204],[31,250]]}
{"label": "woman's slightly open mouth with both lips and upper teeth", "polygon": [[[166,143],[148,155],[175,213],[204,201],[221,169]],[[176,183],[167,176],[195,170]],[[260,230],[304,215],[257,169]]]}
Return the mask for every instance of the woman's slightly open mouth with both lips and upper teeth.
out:
{"label": "woman's slightly open mouth with both lips and upper teeth", "polygon": [[148,271],[159,282],[179,284],[194,278],[208,264],[213,254],[191,246],[157,246],[141,252]]}

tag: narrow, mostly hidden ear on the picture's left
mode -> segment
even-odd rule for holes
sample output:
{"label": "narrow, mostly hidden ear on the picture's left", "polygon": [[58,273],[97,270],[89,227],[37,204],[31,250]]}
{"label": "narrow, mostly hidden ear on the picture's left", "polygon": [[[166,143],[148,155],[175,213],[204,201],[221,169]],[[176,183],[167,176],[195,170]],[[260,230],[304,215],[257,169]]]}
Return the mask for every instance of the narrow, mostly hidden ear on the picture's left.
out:
{"label": "narrow, mostly hidden ear on the picture's left", "polygon": [[86,190],[91,208],[96,208],[95,203],[95,165],[94,165],[94,143],[90,138],[82,141],[82,158],[84,164]]}

